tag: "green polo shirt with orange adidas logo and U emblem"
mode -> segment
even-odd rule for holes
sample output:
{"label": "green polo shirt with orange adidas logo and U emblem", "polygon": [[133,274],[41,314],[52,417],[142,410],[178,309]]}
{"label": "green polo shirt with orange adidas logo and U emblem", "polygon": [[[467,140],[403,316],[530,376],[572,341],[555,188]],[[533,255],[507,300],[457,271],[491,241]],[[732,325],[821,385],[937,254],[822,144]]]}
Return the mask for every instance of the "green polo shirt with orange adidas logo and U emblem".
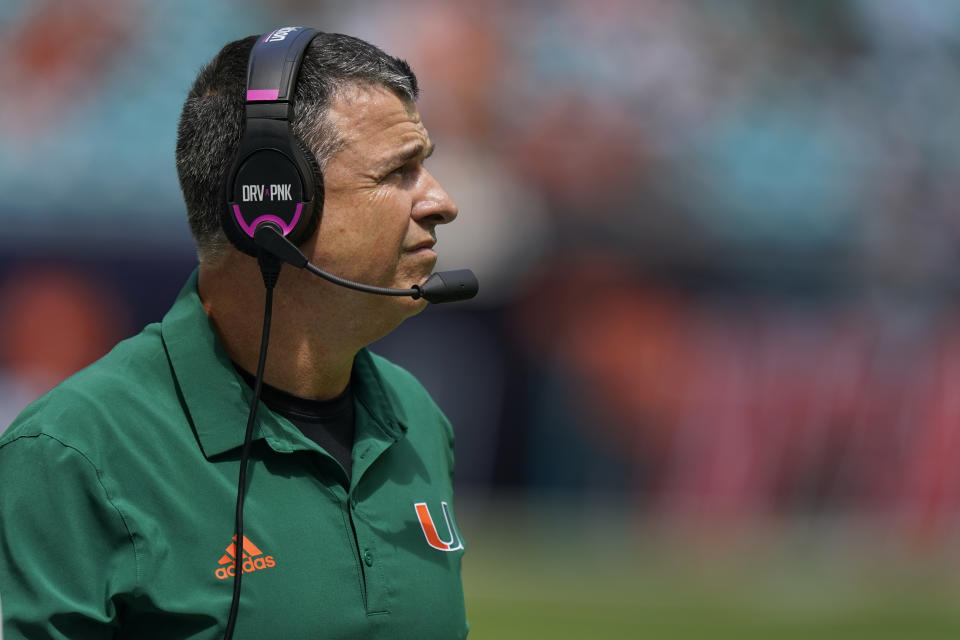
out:
{"label": "green polo shirt with orange adidas logo and U emblem", "polygon": [[[234,545],[251,390],[196,291],[0,436],[6,640],[463,638],[453,431],[408,372],[361,351],[349,491],[266,406]],[[238,548],[240,547],[240,548]]]}

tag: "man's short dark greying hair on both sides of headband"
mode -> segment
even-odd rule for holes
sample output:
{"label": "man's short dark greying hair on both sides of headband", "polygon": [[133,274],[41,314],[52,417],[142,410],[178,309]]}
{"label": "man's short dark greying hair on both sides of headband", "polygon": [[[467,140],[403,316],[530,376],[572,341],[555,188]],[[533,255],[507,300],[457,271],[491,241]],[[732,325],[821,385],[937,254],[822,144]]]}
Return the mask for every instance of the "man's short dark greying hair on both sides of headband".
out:
{"label": "man's short dark greying hair on both sides of headband", "polygon": [[[257,37],[223,47],[197,75],[180,113],[177,175],[201,261],[215,259],[229,245],[220,227],[223,183],[240,144],[247,61]],[[405,61],[359,38],[318,34],[300,68],[291,129],[321,170],[342,144],[327,118],[330,101],[348,85],[383,86],[411,102],[419,95]]]}

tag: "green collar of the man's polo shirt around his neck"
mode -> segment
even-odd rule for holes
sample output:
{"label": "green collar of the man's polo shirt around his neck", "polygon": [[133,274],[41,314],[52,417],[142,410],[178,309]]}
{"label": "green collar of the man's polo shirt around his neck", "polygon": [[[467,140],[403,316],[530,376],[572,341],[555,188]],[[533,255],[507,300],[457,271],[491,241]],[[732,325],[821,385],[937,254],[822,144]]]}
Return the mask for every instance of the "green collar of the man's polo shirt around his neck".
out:
{"label": "green collar of the man's polo shirt around his neck", "polygon": [[[253,390],[237,373],[220,343],[197,293],[197,270],[190,275],[160,326],[163,344],[184,409],[203,454],[212,458],[243,446]],[[357,446],[395,442],[406,431],[402,410],[386,391],[372,356],[362,349],[354,359],[358,408]],[[277,452],[316,450],[317,445],[261,401],[254,440],[266,439]],[[375,446],[379,449],[380,446]]]}

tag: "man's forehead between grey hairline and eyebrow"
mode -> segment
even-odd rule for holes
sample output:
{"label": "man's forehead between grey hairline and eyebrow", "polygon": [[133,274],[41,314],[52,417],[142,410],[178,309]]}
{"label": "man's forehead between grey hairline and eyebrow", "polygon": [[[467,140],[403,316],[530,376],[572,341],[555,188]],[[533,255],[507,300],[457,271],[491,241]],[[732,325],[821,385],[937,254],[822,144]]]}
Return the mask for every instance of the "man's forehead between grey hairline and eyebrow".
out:
{"label": "man's forehead between grey hairline and eyebrow", "polygon": [[349,85],[330,101],[327,119],[337,131],[340,153],[389,153],[428,142],[416,105],[381,86]]}

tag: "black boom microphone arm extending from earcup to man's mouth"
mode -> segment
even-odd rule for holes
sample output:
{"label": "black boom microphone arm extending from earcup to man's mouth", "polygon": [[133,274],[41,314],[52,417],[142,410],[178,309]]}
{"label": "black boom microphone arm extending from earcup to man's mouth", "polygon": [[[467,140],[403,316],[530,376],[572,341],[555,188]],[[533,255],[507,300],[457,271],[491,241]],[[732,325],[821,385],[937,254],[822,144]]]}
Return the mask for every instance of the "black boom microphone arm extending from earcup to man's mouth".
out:
{"label": "black boom microphone arm extending from earcup to man's mouth", "polygon": [[469,269],[457,269],[455,271],[438,271],[431,274],[423,285],[414,285],[411,289],[389,289],[386,287],[374,287],[369,284],[361,284],[353,280],[347,280],[332,273],[327,273],[323,269],[311,264],[303,252],[295,244],[284,237],[280,227],[273,222],[260,223],[253,233],[254,243],[283,260],[287,264],[293,265],[298,269],[306,269],[310,273],[332,282],[333,284],[355,291],[365,293],[375,293],[381,296],[410,296],[414,300],[423,298],[427,302],[439,304],[441,302],[457,302],[459,300],[469,300],[477,295],[480,290],[480,283],[477,277]]}

